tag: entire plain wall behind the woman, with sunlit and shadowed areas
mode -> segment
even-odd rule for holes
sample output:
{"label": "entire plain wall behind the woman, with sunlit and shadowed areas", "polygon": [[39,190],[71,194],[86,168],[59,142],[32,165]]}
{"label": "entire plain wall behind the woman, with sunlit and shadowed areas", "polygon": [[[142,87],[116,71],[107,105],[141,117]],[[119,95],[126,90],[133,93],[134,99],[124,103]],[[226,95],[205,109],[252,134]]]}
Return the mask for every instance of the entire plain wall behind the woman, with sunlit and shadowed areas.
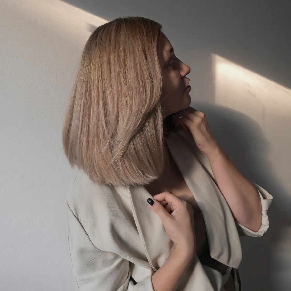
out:
{"label": "entire plain wall behind the woman, with sunlit and shadowed areas", "polygon": [[205,2],[1,1],[0,290],[73,290],[63,203],[75,170],[63,154],[62,123],[90,33],[127,15],[164,26],[191,67],[191,106],[206,113],[239,170],[274,196],[269,231],[242,239],[242,290],[289,290],[288,7]]}

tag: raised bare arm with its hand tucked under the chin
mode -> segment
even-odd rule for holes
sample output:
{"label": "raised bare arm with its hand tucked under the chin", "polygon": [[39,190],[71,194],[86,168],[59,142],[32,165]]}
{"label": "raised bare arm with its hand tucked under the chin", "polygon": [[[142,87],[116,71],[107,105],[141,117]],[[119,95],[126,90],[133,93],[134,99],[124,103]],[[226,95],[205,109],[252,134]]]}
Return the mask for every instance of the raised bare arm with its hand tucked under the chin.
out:
{"label": "raised bare arm with its hand tucked under the chin", "polygon": [[[181,116],[181,118],[179,117]],[[210,162],[214,178],[235,220],[253,231],[262,224],[262,205],[258,190],[239,173],[214,138],[205,114],[187,107],[173,114],[175,126],[188,127],[198,149]]]}

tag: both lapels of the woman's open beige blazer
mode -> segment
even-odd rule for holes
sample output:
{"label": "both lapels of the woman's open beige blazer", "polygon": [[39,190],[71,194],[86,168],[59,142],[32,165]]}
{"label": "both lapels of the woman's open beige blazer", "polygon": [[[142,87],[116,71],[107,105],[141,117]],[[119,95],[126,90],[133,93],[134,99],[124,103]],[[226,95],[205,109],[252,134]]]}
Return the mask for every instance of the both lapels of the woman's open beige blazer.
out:
{"label": "both lapels of the woman's open beige blazer", "polygon": [[[194,145],[194,140],[191,142]],[[242,252],[237,228],[207,158],[195,147],[187,146],[187,139],[177,134],[167,136],[166,143],[203,214],[211,257],[238,268]],[[173,242],[157,214],[150,209],[146,200],[152,196],[145,187],[128,187],[128,190],[148,261],[157,271],[172,253]]]}

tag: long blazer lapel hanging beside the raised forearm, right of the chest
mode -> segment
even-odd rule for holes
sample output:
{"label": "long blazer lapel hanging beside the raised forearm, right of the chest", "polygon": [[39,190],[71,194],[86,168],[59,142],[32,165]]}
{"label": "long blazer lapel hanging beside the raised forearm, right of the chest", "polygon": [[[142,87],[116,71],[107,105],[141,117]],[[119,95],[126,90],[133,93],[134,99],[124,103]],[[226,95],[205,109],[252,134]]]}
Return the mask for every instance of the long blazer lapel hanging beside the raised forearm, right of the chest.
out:
{"label": "long blazer lapel hanging beside the raised forearm, right of the chest", "polygon": [[203,214],[211,257],[237,268],[242,259],[239,235],[227,202],[214,182],[208,159],[201,152],[200,156],[194,155],[195,147],[191,152],[177,134],[167,136],[167,144]]}

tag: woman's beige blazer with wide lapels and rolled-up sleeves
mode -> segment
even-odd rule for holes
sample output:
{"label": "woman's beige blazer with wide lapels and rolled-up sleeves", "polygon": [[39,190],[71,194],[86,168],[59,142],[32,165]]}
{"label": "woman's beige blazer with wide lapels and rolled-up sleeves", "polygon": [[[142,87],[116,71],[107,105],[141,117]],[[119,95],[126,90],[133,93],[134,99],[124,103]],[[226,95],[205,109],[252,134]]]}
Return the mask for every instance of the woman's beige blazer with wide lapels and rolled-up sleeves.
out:
{"label": "woman's beige blazer with wide lapels and rolled-up sleeves", "polygon": [[[203,214],[210,255],[236,270],[242,259],[239,235],[260,237],[267,231],[273,197],[254,184],[262,202],[262,226],[258,232],[249,230],[234,221],[193,137],[179,130],[167,136],[166,143]],[[151,276],[173,251],[173,242],[147,203],[150,197],[143,186],[111,188],[93,184],[83,171],[77,173],[65,202],[76,290],[154,291]],[[202,265],[195,255],[176,290],[222,291],[223,284],[221,273]]]}

